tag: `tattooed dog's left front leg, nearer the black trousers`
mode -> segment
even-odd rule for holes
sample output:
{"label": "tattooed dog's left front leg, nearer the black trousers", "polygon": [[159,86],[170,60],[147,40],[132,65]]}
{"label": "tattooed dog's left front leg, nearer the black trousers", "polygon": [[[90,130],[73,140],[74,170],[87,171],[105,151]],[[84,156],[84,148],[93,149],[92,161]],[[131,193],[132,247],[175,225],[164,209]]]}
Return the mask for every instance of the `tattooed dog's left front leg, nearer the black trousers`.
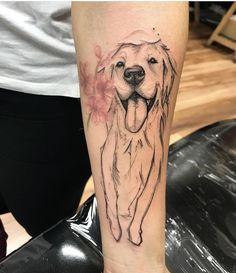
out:
{"label": "tattooed dog's left front leg, nearer the black trousers", "polygon": [[119,241],[122,230],[117,212],[117,190],[113,174],[113,160],[116,147],[116,134],[111,129],[104,146],[101,148],[102,185],[106,203],[106,216],[110,230],[116,241]]}

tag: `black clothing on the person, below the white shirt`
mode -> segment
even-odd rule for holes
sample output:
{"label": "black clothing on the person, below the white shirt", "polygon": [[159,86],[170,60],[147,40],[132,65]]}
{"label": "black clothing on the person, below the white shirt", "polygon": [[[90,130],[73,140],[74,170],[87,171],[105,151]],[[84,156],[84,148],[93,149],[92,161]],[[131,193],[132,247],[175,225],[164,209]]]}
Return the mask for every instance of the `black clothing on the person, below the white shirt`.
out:
{"label": "black clothing on the person, below the white shirt", "polygon": [[0,214],[36,237],[76,213],[91,175],[80,101],[0,88],[0,128]]}

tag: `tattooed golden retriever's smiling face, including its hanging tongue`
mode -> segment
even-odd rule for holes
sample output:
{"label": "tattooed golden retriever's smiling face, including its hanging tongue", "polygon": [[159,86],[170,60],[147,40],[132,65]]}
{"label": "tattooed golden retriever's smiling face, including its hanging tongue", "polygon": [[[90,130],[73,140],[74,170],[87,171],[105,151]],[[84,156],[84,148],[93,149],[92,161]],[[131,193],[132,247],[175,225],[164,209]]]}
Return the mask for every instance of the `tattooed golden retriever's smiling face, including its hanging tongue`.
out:
{"label": "tattooed golden retriever's smiling face, including its hanging tongue", "polygon": [[159,42],[124,44],[113,55],[111,63],[117,99],[125,113],[125,127],[136,133],[148,113],[159,104],[165,80],[171,81],[171,76],[167,79],[168,73],[173,72],[169,55]]}

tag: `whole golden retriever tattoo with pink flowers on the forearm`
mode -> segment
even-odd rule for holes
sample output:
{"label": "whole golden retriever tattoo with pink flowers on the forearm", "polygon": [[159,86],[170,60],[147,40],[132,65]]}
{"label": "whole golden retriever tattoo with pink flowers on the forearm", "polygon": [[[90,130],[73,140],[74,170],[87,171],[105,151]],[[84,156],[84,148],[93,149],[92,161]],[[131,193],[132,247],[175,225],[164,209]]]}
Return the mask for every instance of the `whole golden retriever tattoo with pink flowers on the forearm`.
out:
{"label": "whole golden retriever tattoo with pink flowers on the forearm", "polygon": [[[155,32],[153,30],[153,32]],[[106,215],[116,241],[139,246],[142,225],[161,178],[163,135],[175,62],[159,34],[135,31],[105,57],[95,77],[80,67],[89,121],[106,123],[101,147]]]}

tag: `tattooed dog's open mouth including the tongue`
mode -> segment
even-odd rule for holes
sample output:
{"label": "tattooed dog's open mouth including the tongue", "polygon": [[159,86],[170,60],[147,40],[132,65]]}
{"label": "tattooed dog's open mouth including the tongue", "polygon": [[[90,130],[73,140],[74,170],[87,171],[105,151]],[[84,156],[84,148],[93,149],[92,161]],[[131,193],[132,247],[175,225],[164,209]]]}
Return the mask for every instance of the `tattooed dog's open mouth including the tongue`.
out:
{"label": "tattooed dog's open mouth including the tongue", "polygon": [[125,127],[127,130],[132,133],[136,133],[142,128],[147,118],[148,112],[154,105],[156,100],[156,93],[153,98],[146,99],[134,91],[128,99],[120,99],[126,112]]}

